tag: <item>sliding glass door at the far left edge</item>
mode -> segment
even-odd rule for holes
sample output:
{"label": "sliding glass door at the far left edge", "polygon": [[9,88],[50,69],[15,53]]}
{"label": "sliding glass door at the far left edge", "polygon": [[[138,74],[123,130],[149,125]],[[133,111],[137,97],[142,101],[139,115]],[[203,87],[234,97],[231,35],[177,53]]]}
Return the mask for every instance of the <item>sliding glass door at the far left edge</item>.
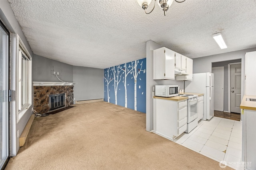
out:
{"label": "sliding glass door at the far left edge", "polygon": [[0,22],[0,168],[9,158],[9,33]]}

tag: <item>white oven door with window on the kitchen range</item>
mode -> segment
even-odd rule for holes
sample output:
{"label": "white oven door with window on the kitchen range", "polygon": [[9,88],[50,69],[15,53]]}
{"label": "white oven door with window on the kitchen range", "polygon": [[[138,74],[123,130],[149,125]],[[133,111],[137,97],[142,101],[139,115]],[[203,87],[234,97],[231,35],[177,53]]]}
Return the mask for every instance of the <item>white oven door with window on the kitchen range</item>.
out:
{"label": "white oven door with window on the kitchen range", "polygon": [[188,123],[198,117],[198,99],[188,99]]}

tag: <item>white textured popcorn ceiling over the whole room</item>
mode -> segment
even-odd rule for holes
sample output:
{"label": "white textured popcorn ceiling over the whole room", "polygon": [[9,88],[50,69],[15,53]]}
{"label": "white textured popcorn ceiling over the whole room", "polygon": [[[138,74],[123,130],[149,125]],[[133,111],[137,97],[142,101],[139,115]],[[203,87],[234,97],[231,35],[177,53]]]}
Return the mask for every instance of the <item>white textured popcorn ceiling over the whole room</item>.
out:
{"label": "white textured popcorn ceiling over the whole room", "polygon": [[174,1],[166,16],[157,4],[145,14],[136,0],[8,1],[34,54],[74,66],[145,58],[148,40],[190,58],[256,47],[256,0]]}

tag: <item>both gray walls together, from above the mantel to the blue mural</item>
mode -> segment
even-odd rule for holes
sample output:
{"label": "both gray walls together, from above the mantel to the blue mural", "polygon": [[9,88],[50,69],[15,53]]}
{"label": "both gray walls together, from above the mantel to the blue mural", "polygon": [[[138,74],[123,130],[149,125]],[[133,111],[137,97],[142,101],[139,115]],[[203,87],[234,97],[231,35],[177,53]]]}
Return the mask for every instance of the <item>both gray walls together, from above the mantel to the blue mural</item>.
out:
{"label": "both gray walls together, from above the mantel to the blue mural", "polygon": [[34,55],[32,62],[34,82],[60,82],[53,72],[65,82],[75,82],[74,98],[76,101],[104,98],[104,69],[72,66]]}

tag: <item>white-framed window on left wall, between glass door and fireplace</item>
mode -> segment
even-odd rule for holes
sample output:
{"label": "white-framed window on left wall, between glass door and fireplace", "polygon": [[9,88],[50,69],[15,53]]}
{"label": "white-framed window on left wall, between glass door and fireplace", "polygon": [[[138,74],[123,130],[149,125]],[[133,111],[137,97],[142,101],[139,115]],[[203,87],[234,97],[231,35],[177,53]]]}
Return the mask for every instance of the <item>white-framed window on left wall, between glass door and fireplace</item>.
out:
{"label": "white-framed window on left wall, between glass door and fireplace", "polygon": [[31,60],[30,56],[20,44],[19,46],[19,67],[18,67],[18,120],[31,105]]}

